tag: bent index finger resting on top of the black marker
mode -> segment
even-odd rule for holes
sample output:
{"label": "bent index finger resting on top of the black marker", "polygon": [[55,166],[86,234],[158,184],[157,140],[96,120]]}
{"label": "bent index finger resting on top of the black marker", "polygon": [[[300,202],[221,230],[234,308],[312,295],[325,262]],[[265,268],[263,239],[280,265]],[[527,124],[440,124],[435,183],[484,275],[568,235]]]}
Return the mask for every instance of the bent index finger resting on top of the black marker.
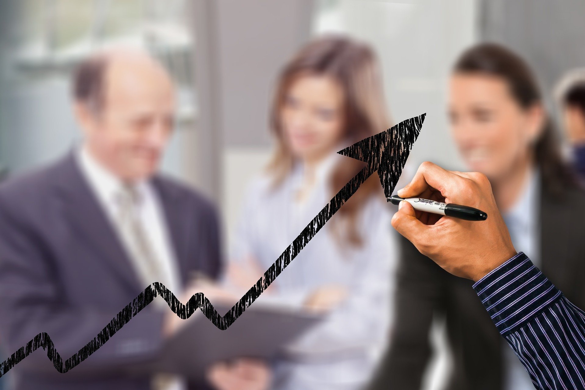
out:
{"label": "bent index finger resting on top of the black marker", "polygon": [[433,164],[429,161],[422,163],[417,170],[417,173],[404,188],[398,190],[398,196],[401,198],[412,198],[428,189],[436,189],[441,192],[445,198],[456,193],[456,188],[459,186],[463,177],[454,172],[445,170],[439,165]]}

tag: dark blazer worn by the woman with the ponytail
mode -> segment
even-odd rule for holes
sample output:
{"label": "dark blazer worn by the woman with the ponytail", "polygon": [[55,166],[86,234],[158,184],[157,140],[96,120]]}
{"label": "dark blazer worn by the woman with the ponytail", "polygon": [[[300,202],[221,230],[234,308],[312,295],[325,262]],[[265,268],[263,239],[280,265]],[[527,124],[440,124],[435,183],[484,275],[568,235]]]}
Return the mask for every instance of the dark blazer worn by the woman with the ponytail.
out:
{"label": "dark blazer worn by the woman with the ponytail", "polygon": [[[559,200],[541,188],[541,270],[569,301],[585,308],[585,195],[579,189],[567,189],[564,195]],[[401,250],[390,350],[371,390],[421,388],[431,356],[433,316],[446,319],[453,357],[446,389],[503,388],[504,339],[472,289],[473,282],[442,270],[402,237]]]}

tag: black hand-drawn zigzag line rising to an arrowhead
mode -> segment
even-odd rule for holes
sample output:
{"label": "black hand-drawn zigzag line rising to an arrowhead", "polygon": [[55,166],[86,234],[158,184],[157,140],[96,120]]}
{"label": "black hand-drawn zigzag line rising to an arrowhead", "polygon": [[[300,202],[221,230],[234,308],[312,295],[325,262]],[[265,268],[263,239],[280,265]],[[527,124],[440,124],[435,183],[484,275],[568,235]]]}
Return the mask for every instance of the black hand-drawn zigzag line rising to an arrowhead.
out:
{"label": "black hand-drawn zigzag line rising to an arrowhead", "polygon": [[218,329],[226,330],[232,325],[246,308],[266,290],[270,284],[280,275],[280,273],[297,257],[298,253],[309,243],[309,241],[321,230],[325,223],[339,210],[343,203],[355,194],[357,189],[367,180],[374,172],[378,172],[380,183],[384,188],[386,197],[390,197],[394,187],[400,178],[402,168],[408,158],[412,145],[417,140],[421,131],[422,123],[426,114],[415,116],[414,118],[404,120],[390,129],[378,133],[374,136],[363,139],[352,146],[338,151],[344,156],[356,158],[364,161],[367,165],[360,170],[340,191],[333,196],[331,201],[315,216],[314,219],[302,230],[297,238],[283,251],[280,257],[264,272],[264,275],[258,279],[240,300],[233,305],[229,312],[220,315],[214,306],[209,302],[202,292],[191,296],[189,301],[184,305],[172,291],[167,289],[160,282],[154,282],[141,292],[132,302],[125,306],[113,319],[94,337],[89,343],[85,344],[77,353],[73,354],[63,363],[59,352],[55,348],[53,341],[48,333],[37,334],[25,346],[19,348],[11,357],[6,359],[0,365],[0,378],[6,374],[16,364],[36,351],[43,348],[47,352],[47,357],[53,362],[54,368],[62,374],[72,370],[78,364],[91,356],[101,346],[103,346],[118,330],[122,329],[133,317],[142,309],[146,308],[156,296],[160,295],[173,310],[176,315],[182,319],[189,318],[197,309]]}

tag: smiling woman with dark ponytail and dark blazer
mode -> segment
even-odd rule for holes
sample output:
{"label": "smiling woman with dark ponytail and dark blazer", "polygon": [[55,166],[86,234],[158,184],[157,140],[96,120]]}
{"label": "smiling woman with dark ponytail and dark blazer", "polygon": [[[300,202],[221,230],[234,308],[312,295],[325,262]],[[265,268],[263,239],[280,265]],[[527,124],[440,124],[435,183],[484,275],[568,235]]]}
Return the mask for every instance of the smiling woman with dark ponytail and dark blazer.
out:
{"label": "smiling woman with dark ponytail and dark blazer", "polygon": [[[585,195],[561,158],[528,65],[496,44],[464,51],[450,77],[449,117],[467,169],[489,178],[514,247],[585,308]],[[435,316],[446,319],[453,358],[446,388],[534,389],[472,281],[453,277],[406,240],[398,267],[397,321],[372,389],[421,388]]]}

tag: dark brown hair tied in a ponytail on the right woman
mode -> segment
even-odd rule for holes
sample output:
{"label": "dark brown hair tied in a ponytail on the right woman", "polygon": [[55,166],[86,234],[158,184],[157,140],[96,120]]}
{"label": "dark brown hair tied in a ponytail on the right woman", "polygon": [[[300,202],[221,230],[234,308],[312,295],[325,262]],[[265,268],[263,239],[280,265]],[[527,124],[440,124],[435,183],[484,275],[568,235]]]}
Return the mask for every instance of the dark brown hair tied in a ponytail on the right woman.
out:
{"label": "dark brown hair tied in a ponytail on the right woman", "polygon": [[[513,51],[495,43],[481,43],[470,47],[456,61],[455,73],[494,75],[505,81],[512,98],[521,108],[542,104],[541,92],[532,70]],[[562,158],[558,133],[550,118],[535,144],[536,165],[541,171],[542,184],[551,194],[561,196],[563,189],[576,187],[572,168]]]}

